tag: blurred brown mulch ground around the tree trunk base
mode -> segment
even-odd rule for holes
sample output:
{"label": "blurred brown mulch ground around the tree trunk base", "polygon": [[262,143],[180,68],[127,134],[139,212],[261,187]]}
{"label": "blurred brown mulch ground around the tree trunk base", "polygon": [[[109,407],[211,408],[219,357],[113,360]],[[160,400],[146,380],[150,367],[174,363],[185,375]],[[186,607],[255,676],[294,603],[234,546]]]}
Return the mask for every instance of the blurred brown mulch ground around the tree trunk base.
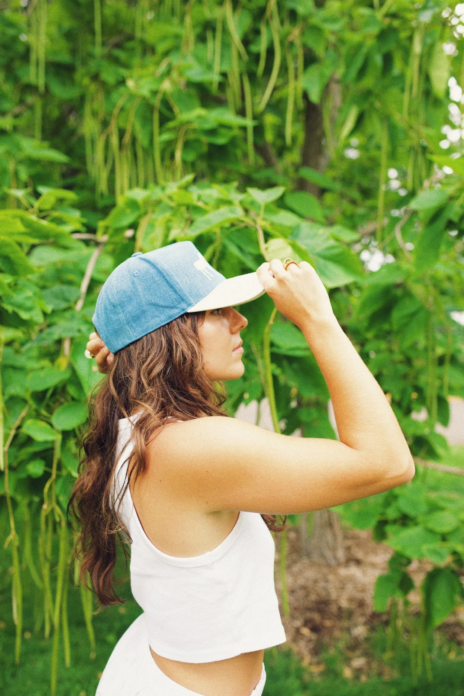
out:
{"label": "blurred brown mulch ground around the tree trunk base", "polygon": [[[344,530],[346,561],[335,567],[314,563],[301,556],[298,530],[287,531],[287,590],[290,616],[283,619],[287,644],[303,665],[317,674],[324,670],[321,654],[342,649],[346,677],[367,679],[372,672],[390,676],[390,667],[374,658],[367,637],[379,624],[388,624],[388,615],[374,612],[372,595],[376,578],[387,572],[392,550],[372,540],[370,530]],[[275,587],[280,600],[279,535],[275,535]],[[431,565],[413,561],[410,567],[416,588]],[[413,612],[419,611],[419,591],[410,594]],[[464,647],[464,609],[454,612],[439,629]],[[440,638],[438,638],[440,640]]]}

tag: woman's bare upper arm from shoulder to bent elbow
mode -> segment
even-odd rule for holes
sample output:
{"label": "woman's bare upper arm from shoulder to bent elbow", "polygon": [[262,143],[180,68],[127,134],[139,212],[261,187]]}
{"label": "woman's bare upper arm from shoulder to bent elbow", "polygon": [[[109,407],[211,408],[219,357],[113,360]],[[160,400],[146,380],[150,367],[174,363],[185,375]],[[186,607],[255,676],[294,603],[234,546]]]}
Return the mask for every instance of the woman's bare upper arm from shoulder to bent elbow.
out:
{"label": "woman's bare upper arm from shoulder to bent elbow", "polygon": [[407,462],[373,461],[335,440],[279,435],[234,418],[172,424],[149,446],[150,469],[206,511],[291,514],[393,488]]}

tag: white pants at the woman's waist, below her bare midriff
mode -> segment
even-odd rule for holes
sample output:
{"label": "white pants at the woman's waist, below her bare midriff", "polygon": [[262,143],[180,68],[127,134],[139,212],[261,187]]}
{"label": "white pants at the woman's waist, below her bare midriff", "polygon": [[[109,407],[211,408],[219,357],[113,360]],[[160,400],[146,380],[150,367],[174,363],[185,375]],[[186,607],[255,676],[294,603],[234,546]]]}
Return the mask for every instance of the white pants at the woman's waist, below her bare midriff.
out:
{"label": "white pants at the woman's waist, below her bare midriff", "polygon": [[[261,696],[266,671],[250,696]],[[141,614],[121,636],[106,663],[95,696],[201,696],[161,672],[150,652],[145,617]],[[218,695],[220,696],[220,695]]]}

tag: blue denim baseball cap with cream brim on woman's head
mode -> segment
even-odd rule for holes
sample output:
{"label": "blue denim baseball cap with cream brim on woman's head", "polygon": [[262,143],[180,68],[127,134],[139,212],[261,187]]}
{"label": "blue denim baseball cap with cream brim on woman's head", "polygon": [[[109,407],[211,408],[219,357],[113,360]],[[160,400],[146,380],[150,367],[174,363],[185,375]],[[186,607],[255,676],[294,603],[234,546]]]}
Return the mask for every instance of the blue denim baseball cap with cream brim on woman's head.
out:
{"label": "blue denim baseball cap with cream brim on woman's head", "polygon": [[225,278],[192,242],[137,252],[100,290],[93,324],[112,353],[186,312],[250,302],[264,293],[256,273]]}

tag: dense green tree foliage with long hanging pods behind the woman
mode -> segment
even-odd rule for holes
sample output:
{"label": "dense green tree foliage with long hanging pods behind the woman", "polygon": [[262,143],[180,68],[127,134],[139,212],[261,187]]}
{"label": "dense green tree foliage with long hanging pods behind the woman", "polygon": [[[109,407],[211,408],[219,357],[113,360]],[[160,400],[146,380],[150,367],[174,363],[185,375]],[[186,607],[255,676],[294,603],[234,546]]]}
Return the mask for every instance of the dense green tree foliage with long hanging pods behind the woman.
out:
{"label": "dense green tree foliage with long hanging pods behind the woman", "polygon": [[[77,569],[64,512],[99,380],[83,357],[95,300],[134,251],[191,239],[227,277],[264,259],[309,261],[415,457],[462,466],[435,425],[447,425],[447,397],[464,395],[464,329],[452,318],[464,310],[464,22],[461,6],[439,0],[8,0],[2,10],[0,510],[10,571],[0,636],[5,674],[15,661],[28,674],[37,659],[35,677],[51,678],[38,693],[74,693],[66,679],[90,693],[97,663],[85,656],[97,647],[103,665],[136,608],[94,619],[95,645],[91,596],[67,581]],[[246,376],[227,385],[230,413],[266,396],[275,429],[335,437],[301,333],[266,297],[243,312]],[[457,478],[419,465],[410,486],[341,510],[394,549],[374,604],[392,617],[379,649],[395,649],[408,677],[385,693],[413,693],[401,689],[433,674],[453,693],[454,667],[432,648],[463,596]],[[416,558],[433,563],[420,616],[408,610]],[[285,583],[282,601],[286,610]],[[303,674],[279,655],[269,656],[269,694],[277,674]],[[7,678],[19,693],[21,677]],[[289,679],[296,686],[280,693],[300,693],[300,677]],[[319,687],[383,688],[327,681],[312,693]]]}

